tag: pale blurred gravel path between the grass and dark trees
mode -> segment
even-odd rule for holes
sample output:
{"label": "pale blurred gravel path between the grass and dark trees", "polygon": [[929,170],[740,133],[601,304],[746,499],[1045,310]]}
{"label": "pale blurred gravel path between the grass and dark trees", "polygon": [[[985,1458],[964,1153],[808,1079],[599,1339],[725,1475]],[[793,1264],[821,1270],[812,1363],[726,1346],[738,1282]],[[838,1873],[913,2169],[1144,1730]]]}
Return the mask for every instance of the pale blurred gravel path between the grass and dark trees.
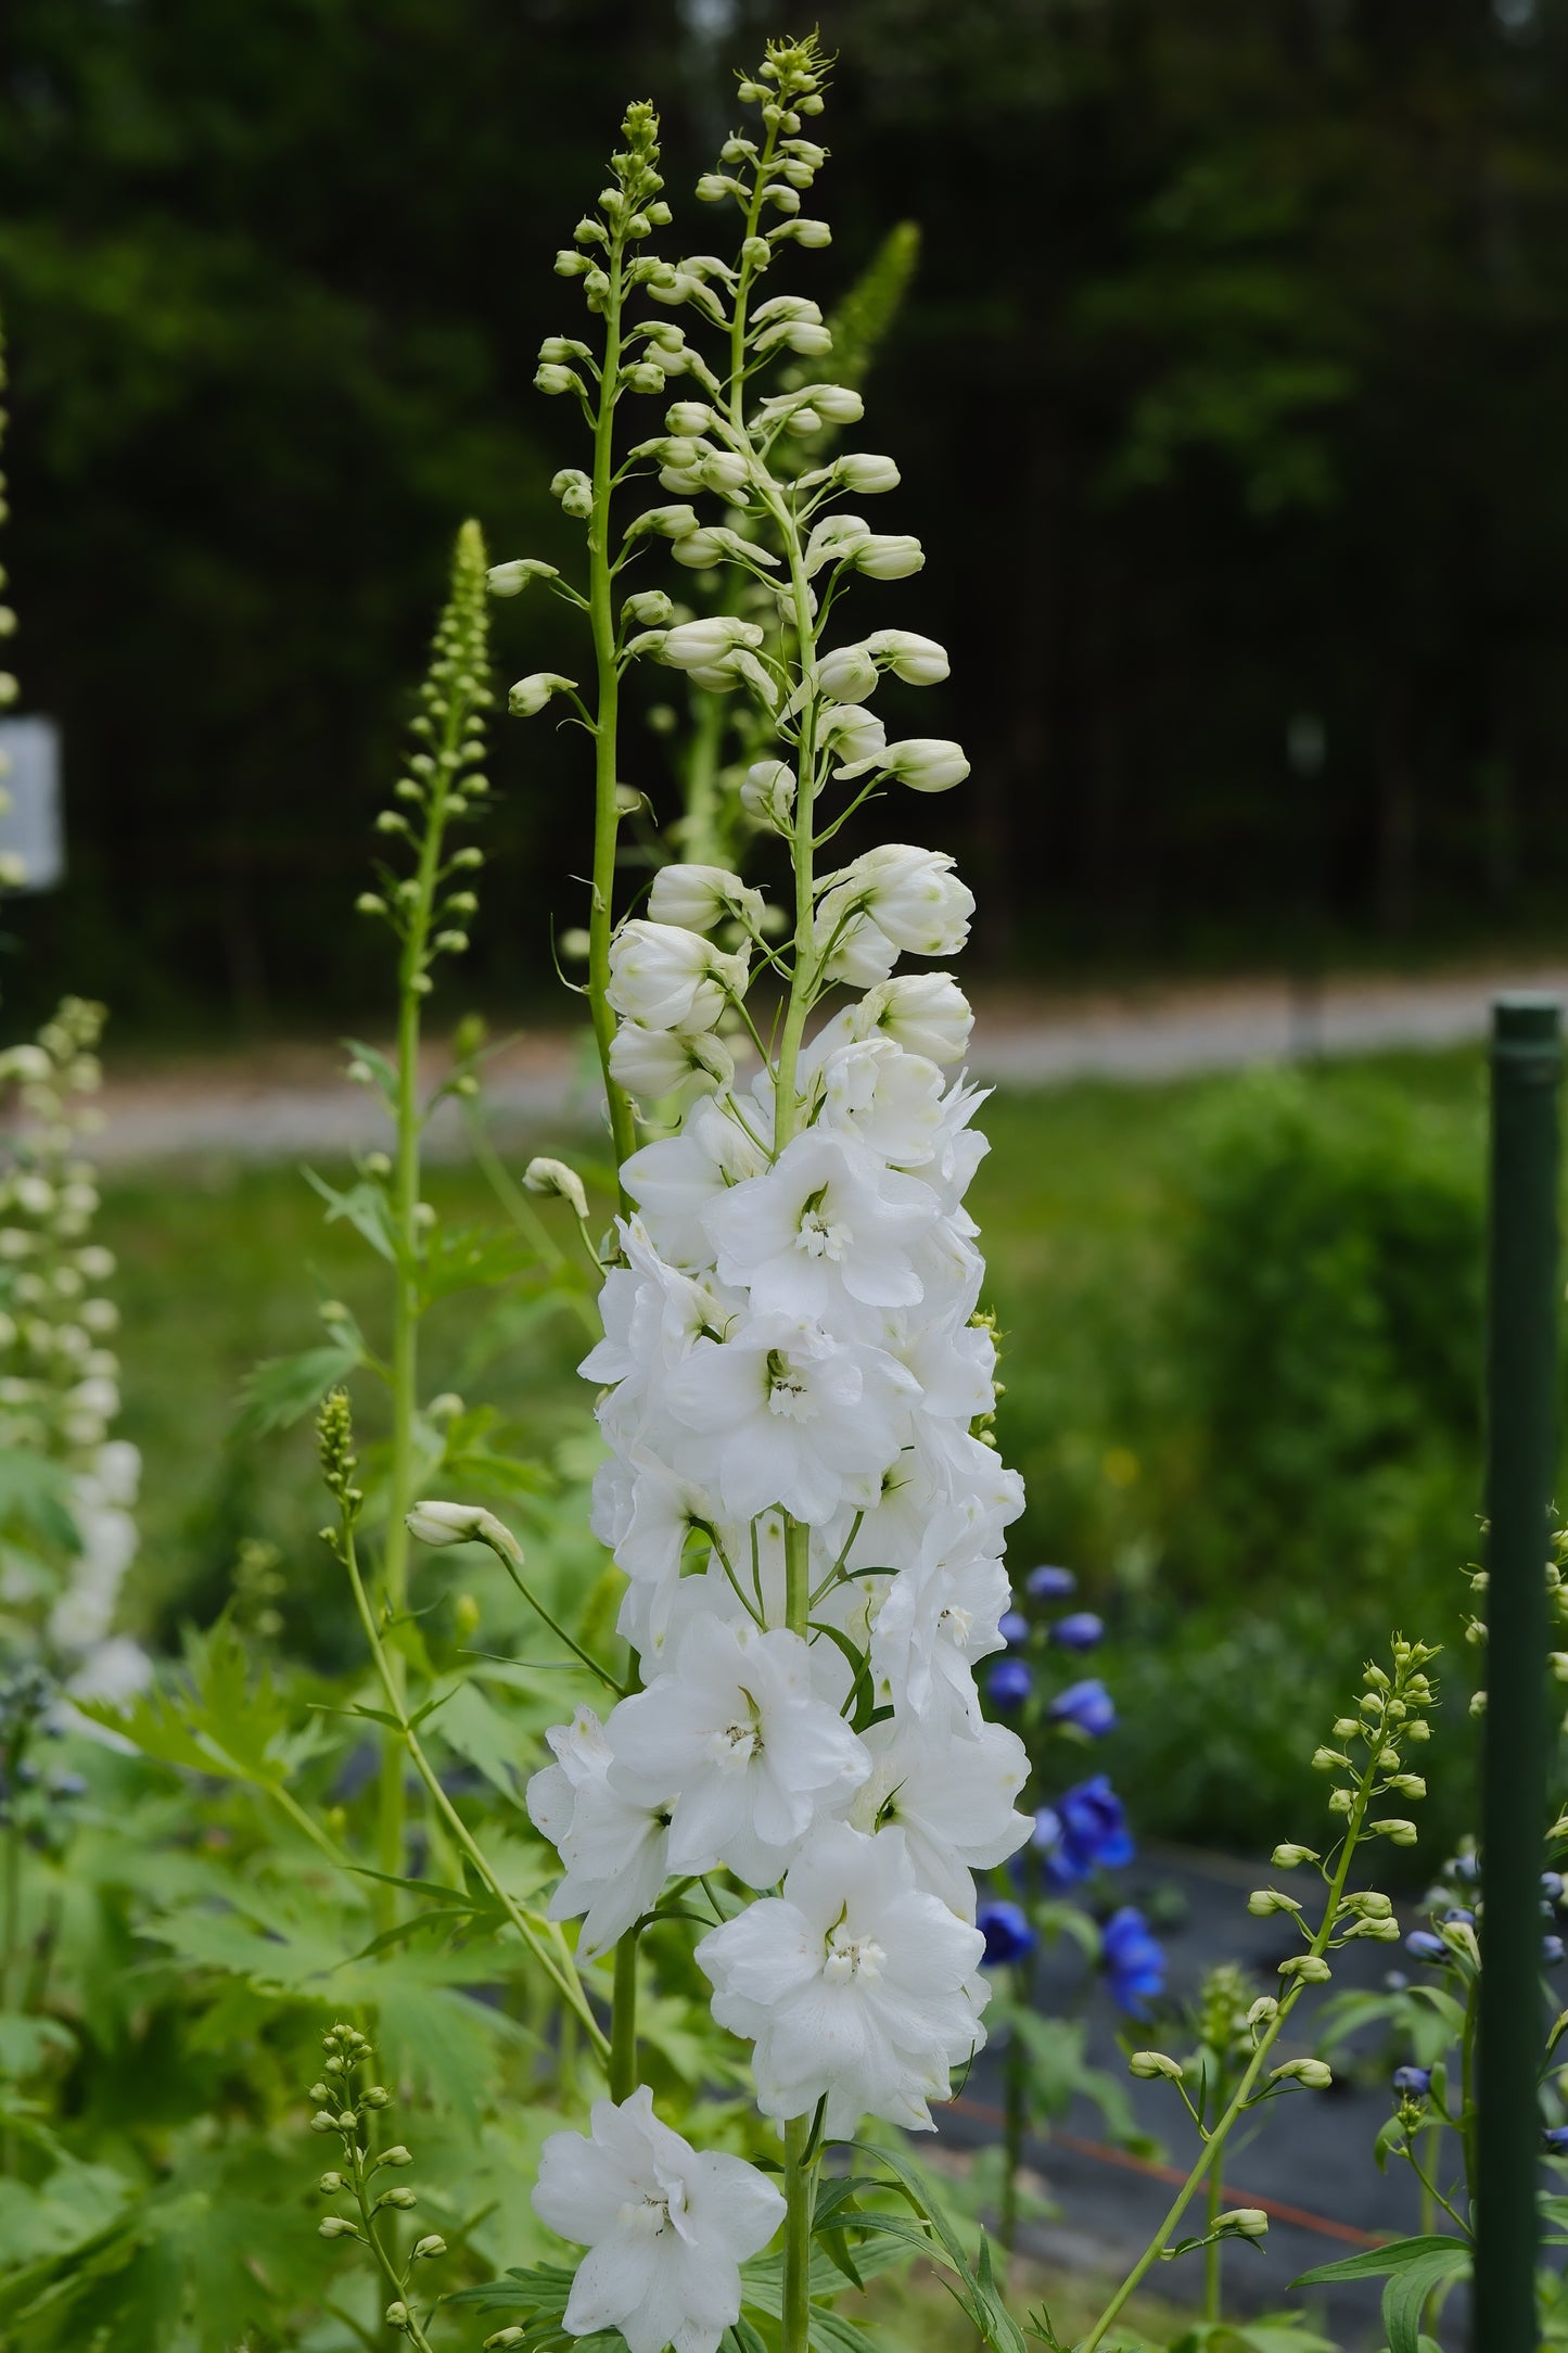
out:
{"label": "pale blurred gravel path between the grass and dark trees", "polygon": [[[1333,979],[1314,991],[1241,981],[1126,995],[992,998],[980,1005],[971,1071],[1011,1087],[1058,1087],[1074,1078],[1154,1085],[1293,1054],[1465,1045],[1486,1033],[1495,991],[1512,986],[1568,995],[1568,965]],[[592,1068],[567,1035],[534,1033],[508,1045],[491,1064],[487,1092],[496,1127],[517,1139],[595,1118]],[[108,1125],[94,1146],[103,1165],[186,1155],[331,1158],[386,1141],[378,1106],[343,1085],[341,1056],[327,1047],[275,1047],[110,1078],[103,1111]],[[437,1153],[463,1148],[451,1106],[437,1113],[430,1146]]]}

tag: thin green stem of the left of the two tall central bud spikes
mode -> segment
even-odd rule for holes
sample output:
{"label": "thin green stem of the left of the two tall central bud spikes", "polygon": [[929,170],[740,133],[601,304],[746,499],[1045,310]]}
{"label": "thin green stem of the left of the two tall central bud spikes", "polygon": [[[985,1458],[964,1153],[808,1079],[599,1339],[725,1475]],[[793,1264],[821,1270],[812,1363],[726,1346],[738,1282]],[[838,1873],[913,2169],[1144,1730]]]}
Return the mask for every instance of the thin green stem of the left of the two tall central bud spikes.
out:
{"label": "thin green stem of the left of the two tall central bud spikes", "polygon": [[[595,718],[592,718],[592,901],[588,908],[588,1005],[592,1035],[599,1047],[604,1073],[604,1104],[609,1132],[616,1146],[616,1172],[637,1151],[637,1118],[632,1099],[616,1082],[609,1068],[609,1049],[616,1042],[616,1012],[609,1002],[609,941],[616,922],[616,835],[621,809],[618,786],[618,722],[621,722],[621,664],[616,652],[616,609],[611,602],[614,569],[609,558],[609,494],[614,482],[616,440],[616,379],[621,374],[621,308],[625,301],[625,231],[616,224],[609,249],[609,294],[604,299],[604,372],[599,376],[599,407],[592,421],[592,515],[588,518],[588,626],[592,631],[595,659]],[[621,1209],[630,1212],[625,1191]]]}

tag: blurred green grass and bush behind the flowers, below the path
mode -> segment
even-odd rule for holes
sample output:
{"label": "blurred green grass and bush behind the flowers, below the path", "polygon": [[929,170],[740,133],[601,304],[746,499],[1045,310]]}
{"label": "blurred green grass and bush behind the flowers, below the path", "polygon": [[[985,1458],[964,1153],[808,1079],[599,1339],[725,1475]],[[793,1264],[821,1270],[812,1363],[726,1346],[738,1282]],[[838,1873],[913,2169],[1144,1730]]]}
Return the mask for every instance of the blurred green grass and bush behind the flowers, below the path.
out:
{"label": "blurred green grass and bush behind the flowers, below the path", "polygon": [[[1095,1758],[1140,1828],[1272,1845],[1319,1805],[1321,1722],[1401,1624],[1448,1645],[1425,1814],[1455,1835],[1481,1492],[1476,1056],[1004,1092],[985,1125],[999,1440],[1030,1497],[1009,1558],[1016,1579],[1072,1565],[1110,1619],[1095,1671],[1121,1727]],[[458,1165],[428,1191],[442,1219],[487,1207]],[[569,1245],[562,1205],[541,1209]],[[101,1226],[120,1257],[122,1428],[146,1452],[134,1614],[165,1638],[209,1621],[256,1537],[280,1548],[284,1647],[350,1659],[308,1433],[235,1438],[235,1407],[256,1355],[317,1339],[308,1282],[374,1329],[374,1261],[270,1165],[209,1162],[179,1186],[110,1174]],[[515,1334],[475,1386],[473,1348],[496,1334],[437,1311],[430,1381],[505,1414],[541,1466],[538,1497],[508,1511],[555,1527],[595,1447],[581,1329],[527,1297],[498,1313]]]}

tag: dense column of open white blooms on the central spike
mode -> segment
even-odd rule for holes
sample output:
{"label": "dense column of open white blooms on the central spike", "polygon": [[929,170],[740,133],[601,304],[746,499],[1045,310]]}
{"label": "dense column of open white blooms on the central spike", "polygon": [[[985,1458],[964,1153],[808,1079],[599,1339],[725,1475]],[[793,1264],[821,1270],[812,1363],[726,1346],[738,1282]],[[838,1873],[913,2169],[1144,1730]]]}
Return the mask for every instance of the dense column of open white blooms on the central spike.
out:
{"label": "dense column of open white blooms on the central spike", "polygon": [[823,958],[872,986],[804,1047],[778,1151],[778,1071],[738,1087],[715,1068],[748,955],[693,927],[755,929],[757,892],[663,868],[611,958],[621,1038],[639,1056],[682,1040],[705,1085],[623,1169],[637,1214],[583,1365],[607,1384],[595,1525],[630,1579],[621,1631],[646,1687],[557,1729],[529,1802],[585,1953],[670,1875],[778,1889],[698,1962],[719,2024],[755,2042],[762,2111],[825,2099],[837,2137],[865,2113],[929,2127],[985,2033],[971,1868],[1027,1835],[1023,1744],[973,1682],[1001,1647],[1023,1497],[973,1435],[994,1344],[964,1209],[980,1096],[952,1075],[971,1014],[947,974],[889,969],[959,948],[971,904],[947,856],[903,845],[820,878]]}

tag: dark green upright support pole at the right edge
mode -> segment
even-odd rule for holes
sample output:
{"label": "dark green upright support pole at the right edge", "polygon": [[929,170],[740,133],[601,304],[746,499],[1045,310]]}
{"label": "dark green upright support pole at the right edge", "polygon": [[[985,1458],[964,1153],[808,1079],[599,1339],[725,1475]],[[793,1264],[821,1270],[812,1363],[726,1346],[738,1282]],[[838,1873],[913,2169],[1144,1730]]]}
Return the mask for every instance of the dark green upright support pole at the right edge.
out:
{"label": "dark green upright support pole at the right edge", "polygon": [[1556,998],[1493,1005],[1476,2353],[1537,2353],[1547,1534],[1556,1461]]}

